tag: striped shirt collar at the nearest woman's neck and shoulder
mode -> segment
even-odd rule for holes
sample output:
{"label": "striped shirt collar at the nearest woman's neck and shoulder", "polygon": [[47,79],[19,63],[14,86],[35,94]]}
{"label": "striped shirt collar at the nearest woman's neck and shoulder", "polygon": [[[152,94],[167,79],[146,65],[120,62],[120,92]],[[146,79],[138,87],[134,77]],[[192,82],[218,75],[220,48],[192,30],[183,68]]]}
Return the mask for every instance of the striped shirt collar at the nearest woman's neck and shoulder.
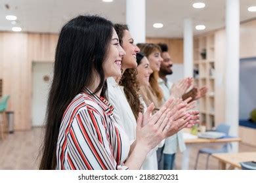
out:
{"label": "striped shirt collar at the nearest woman's neck and shoulder", "polygon": [[98,105],[106,112],[106,114],[109,116],[113,114],[113,105],[111,105],[104,97],[98,97],[88,88],[85,88],[83,93],[85,93],[85,95],[90,97],[93,101],[96,101],[96,103],[98,103]]}

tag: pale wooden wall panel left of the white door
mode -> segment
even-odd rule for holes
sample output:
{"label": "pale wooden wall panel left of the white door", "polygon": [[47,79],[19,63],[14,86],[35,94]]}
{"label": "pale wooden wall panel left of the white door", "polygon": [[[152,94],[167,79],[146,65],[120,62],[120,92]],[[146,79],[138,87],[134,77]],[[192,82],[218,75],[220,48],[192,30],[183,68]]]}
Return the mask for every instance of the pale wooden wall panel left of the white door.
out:
{"label": "pale wooden wall panel left of the white door", "polygon": [[28,35],[25,33],[1,33],[3,55],[3,95],[11,95],[7,110],[14,111],[14,127],[28,129]]}

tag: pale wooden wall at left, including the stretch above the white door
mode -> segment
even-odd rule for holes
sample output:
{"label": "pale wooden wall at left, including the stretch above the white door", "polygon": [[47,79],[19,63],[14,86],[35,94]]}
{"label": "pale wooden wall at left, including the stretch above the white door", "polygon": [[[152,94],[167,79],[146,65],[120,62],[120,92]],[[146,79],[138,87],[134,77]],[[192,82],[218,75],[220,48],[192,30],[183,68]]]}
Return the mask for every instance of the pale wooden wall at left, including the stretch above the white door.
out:
{"label": "pale wooden wall at left, including the stretch above the white door", "polygon": [[57,41],[51,34],[0,33],[0,77],[16,130],[32,127],[32,61],[53,62]]}

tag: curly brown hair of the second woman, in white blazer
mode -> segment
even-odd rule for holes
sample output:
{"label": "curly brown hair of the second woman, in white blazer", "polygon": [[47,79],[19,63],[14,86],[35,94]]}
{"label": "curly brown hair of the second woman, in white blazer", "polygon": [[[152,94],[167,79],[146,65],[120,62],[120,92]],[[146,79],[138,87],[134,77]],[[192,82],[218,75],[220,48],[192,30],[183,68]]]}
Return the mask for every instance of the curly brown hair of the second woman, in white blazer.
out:
{"label": "curly brown hair of the second woman, in white blazer", "polygon": [[[122,46],[124,32],[125,30],[129,31],[129,29],[125,24],[115,24],[114,28],[116,30],[119,43]],[[139,112],[143,112],[143,107],[139,99],[139,84],[136,79],[137,74],[137,69],[126,69],[119,82],[119,85],[123,86],[123,91],[125,92],[125,96],[136,120],[138,119]]]}

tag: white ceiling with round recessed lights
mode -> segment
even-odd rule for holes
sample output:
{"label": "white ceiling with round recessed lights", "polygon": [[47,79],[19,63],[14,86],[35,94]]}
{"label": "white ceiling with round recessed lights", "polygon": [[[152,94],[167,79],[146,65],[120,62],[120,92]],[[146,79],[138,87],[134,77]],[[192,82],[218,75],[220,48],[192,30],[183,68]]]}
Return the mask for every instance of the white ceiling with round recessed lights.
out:
{"label": "white ceiling with round recessed lights", "polygon": [[[140,1],[140,0],[138,0]],[[198,0],[206,7],[195,9],[195,0],[146,0],[146,36],[182,37],[184,18],[192,18],[194,25],[204,24],[204,31],[194,29],[194,34],[224,27],[225,0]],[[5,5],[9,5],[9,10]],[[256,12],[247,8],[256,6],[256,0],[240,0],[240,20],[256,18]],[[18,17],[22,31],[58,33],[60,28],[78,14],[98,14],[114,23],[125,24],[125,0],[104,3],[102,0],[0,0],[0,31],[11,31],[11,21],[5,16]],[[156,22],[163,28],[156,29]]]}

